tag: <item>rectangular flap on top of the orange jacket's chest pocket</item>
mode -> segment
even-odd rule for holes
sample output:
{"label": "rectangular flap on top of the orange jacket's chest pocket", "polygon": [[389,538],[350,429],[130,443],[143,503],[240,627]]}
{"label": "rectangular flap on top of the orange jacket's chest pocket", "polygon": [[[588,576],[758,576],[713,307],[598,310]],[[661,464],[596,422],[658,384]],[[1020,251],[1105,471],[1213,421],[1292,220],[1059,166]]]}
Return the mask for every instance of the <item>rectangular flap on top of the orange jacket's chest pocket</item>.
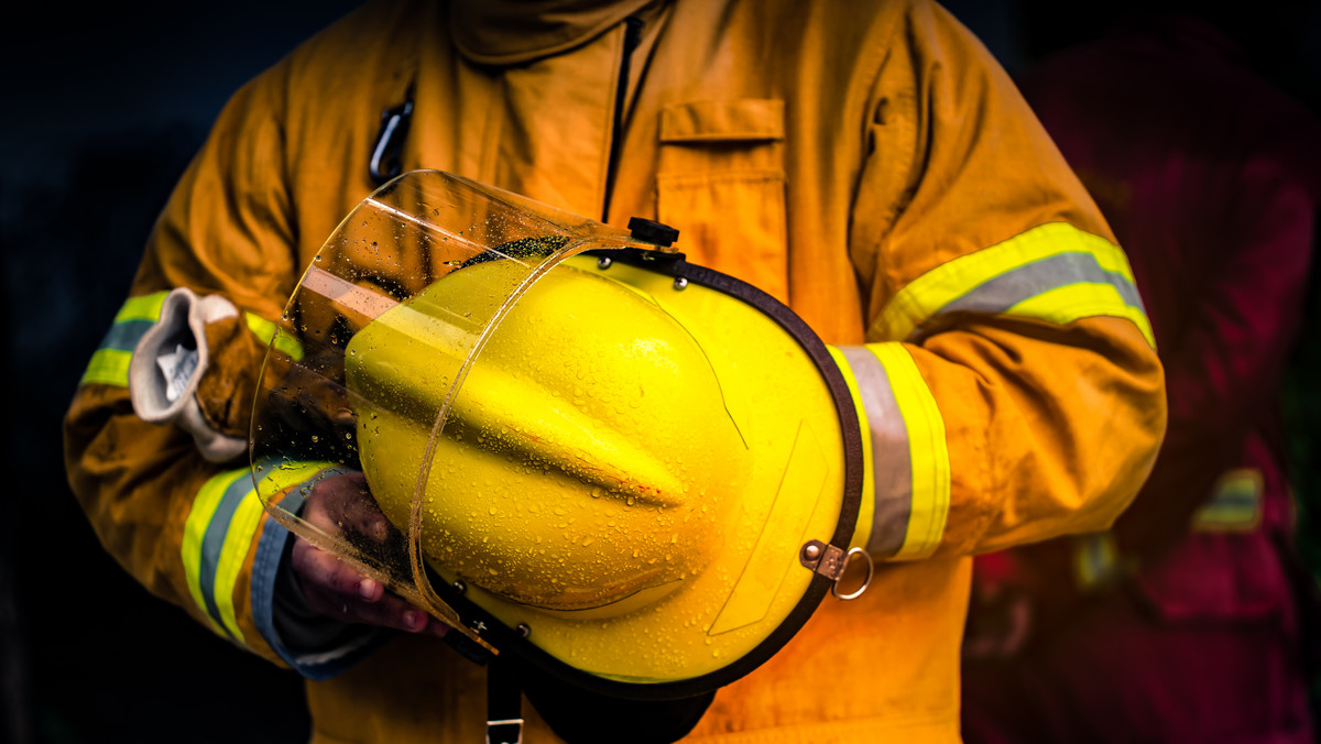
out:
{"label": "rectangular flap on top of the orange jacket's chest pocket", "polygon": [[660,141],[770,141],[785,139],[785,102],[696,100],[660,111]]}

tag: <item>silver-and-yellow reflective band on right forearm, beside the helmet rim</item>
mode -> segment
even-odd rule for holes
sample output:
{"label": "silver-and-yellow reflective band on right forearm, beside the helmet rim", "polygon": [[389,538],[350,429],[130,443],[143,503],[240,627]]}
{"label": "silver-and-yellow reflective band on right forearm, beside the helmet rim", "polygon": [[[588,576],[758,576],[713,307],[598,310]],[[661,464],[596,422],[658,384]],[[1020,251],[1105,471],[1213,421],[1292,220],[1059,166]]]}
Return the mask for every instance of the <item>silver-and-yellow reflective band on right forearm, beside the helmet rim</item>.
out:
{"label": "silver-and-yellow reflective band on right forearm, beside the helmet rim", "polygon": [[857,378],[872,439],[876,511],[868,550],[926,558],[941,544],[950,511],[945,419],[901,344],[844,346]]}

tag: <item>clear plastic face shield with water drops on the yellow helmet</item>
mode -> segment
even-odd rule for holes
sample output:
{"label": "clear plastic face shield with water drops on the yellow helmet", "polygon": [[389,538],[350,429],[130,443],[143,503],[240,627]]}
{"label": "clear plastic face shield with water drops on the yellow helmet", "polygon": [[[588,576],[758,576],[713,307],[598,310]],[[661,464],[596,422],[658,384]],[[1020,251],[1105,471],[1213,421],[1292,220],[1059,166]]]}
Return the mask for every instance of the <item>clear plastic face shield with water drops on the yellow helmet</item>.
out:
{"label": "clear plastic face shield with water drops on the yellow helmet", "polygon": [[[317,254],[262,370],[251,456],[267,511],[478,640],[433,591],[424,559],[428,547],[476,548],[428,529],[440,533],[454,518],[495,523],[503,506],[493,501],[486,514],[453,515],[454,505],[437,503],[427,484],[464,478],[481,492],[499,473],[480,459],[456,472],[453,457],[436,459],[437,445],[449,437],[452,452],[464,452],[465,440],[487,452],[518,449],[531,456],[515,466],[550,469],[551,456],[536,456],[538,433],[515,431],[523,428],[519,381],[466,398],[460,391],[502,318],[539,279],[585,250],[625,247],[657,250],[448,173],[408,173],[375,192]],[[536,374],[535,361],[514,366],[515,377]],[[446,427],[456,407],[466,415]],[[437,464],[445,472],[435,472]],[[305,509],[313,493],[320,503]],[[450,518],[427,519],[440,510]],[[474,523],[465,539],[495,537],[482,535],[489,526]],[[498,567],[457,563],[499,584]]]}

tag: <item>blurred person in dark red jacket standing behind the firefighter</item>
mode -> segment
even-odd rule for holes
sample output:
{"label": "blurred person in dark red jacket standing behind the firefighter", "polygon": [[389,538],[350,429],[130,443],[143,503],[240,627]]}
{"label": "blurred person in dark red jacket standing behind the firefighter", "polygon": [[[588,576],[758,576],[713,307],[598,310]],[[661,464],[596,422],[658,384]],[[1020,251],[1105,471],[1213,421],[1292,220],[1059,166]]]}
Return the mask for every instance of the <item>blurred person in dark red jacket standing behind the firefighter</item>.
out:
{"label": "blurred person in dark red jacket standing behind the firefighter", "polygon": [[1312,741],[1277,415],[1321,126],[1207,21],[1161,16],[1021,89],[1128,251],[1169,429],[1115,527],[983,556],[964,737]]}

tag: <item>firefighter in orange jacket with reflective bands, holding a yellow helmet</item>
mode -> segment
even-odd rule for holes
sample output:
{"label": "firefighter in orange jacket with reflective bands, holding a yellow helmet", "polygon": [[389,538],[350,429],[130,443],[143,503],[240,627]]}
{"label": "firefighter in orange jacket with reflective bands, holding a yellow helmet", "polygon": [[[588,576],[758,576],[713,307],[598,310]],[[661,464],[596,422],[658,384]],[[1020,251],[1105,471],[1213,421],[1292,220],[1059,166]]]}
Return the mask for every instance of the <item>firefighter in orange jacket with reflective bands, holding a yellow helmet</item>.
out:
{"label": "firefighter in orange jacket with reflective bands, holding a yellow helmet", "polygon": [[[435,637],[458,633],[263,517],[268,481],[242,459],[262,362],[322,241],[398,172],[621,227],[653,218],[690,263],[838,349],[827,366],[852,379],[848,436],[868,444],[872,478],[840,542],[865,535],[880,563],[865,595],[827,599],[720,686],[687,736],[956,741],[970,555],[1103,529],[1162,433],[1123,252],[1005,74],[933,3],[557,5],[369,4],[231,99],[78,389],[74,492],[148,588],[308,678],[314,741],[482,740],[486,669]],[[406,285],[419,255],[363,260],[378,295],[423,291]],[[318,404],[316,381],[293,390],[291,429],[354,416]],[[807,399],[791,385],[757,395]],[[374,477],[266,476],[305,485],[309,519]],[[711,534],[732,539],[733,523]],[[565,687],[543,707],[577,698]],[[556,740],[556,711],[520,710],[524,740]],[[609,710],[559,720],[647,731]]]}

